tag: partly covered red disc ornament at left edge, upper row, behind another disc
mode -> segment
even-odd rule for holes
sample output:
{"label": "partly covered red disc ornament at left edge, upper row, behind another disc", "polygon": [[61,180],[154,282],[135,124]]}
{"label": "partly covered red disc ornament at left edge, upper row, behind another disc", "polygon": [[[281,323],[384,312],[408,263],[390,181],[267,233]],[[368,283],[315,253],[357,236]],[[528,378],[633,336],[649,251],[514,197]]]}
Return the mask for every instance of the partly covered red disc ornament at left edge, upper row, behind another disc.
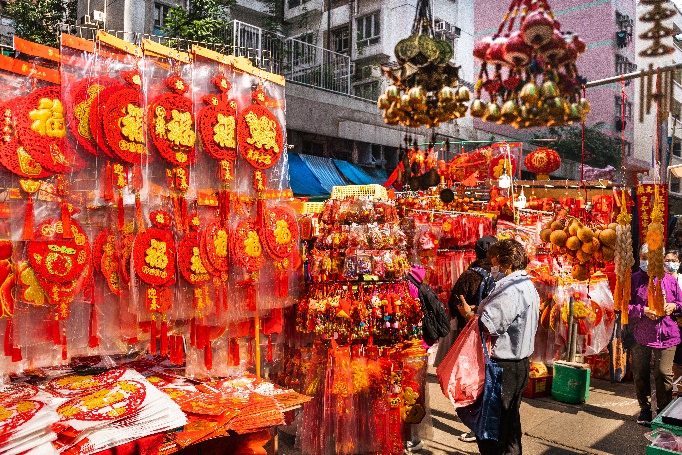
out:
{"label": "partly covered red disc ornament at left edge, upper row, behind another disc", "polygon": [[52,172],[40,165],[22,145],[16,134],[15,110],[24,103],[23,97],[13,98],[0,104],[2,115],[2,140],[0,141],[0,164],[19,177],[42,179]]}

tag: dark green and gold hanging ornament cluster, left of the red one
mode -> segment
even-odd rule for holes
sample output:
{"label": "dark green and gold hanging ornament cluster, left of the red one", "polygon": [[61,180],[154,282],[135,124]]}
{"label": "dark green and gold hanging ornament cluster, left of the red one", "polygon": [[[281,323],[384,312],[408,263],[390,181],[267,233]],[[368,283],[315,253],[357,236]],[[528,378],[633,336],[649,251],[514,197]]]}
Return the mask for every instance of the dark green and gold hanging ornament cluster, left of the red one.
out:
{"label": "dark green and gold hanging ornament cluster, left of the red one", "polygon": [[435,39],[429,0],[418,0],[412,34],[395,46],[397,64],[382,65],[393,83],[377,100],[389,125],[437,127],[463,117],[471,93],[459,85],[452,45]]}

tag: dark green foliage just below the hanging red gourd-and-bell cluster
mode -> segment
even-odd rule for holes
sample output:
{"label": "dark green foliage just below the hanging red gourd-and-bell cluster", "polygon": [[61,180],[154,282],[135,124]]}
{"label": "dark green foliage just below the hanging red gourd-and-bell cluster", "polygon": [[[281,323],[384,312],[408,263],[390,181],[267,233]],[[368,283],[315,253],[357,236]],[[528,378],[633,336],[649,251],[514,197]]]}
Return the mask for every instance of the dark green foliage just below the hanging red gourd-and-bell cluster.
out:
{"label": "dark green foliage just below the hanging red gourd-and-bell cluster", "polygon": [[[606,125],[603,122],[585,127],[585,164],[603,168],[611,165],[620,168],[622,161],[621,139],[604,133]],[[582,153],[582,127],[565,126],[548,128],[542,134],[536,134],[536,139],[557,138],[548,147],[556,150],[559,156],[580,162]]]}

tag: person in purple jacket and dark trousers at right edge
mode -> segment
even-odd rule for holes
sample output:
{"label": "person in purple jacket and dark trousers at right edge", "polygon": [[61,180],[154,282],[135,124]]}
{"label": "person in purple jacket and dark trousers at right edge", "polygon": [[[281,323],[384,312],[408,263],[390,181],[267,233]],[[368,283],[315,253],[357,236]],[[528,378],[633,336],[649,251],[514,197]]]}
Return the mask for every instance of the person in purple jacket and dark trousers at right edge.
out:
{"label": "person in purple jacket and dark trousers at right edge", "polygon": [[662,280],[665,295],[665,315],[658,316],[648,306],[649,247],[642,245],[639,270],[632,274],[632,300],[630,302],[630,328],[635,337],[632,347],[632,374],[639,401],[637,423],[651,425],[651,356],[654,357],[656,405],[663,411],[672,401],[673,359],[680,344],[680,329],[675,320],[682,315],[682,290],[674,276],[666,273]]}

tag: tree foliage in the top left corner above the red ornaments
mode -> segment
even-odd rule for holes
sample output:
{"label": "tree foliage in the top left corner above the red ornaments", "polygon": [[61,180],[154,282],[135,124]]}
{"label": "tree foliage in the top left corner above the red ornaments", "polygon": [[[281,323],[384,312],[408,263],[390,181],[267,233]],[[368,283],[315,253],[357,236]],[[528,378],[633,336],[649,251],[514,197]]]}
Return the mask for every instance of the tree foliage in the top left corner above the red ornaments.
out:
{"label": "tree foliage in the top left corner above the red ornaments", "polygon": [[14,21],[14,33],[20,37],[59,47],[59,24],[76,21],[78,0],[10,0],[2,15]]}

